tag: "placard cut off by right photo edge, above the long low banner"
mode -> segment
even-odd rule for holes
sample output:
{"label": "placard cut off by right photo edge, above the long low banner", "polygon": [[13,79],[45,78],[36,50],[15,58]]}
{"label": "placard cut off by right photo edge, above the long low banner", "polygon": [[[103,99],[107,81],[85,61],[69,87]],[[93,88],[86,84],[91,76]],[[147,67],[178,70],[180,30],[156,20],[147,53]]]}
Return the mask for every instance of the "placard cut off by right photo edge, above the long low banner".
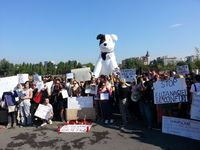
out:
{"label": "placard cut off by right photo edge, above the long low banner", "polygon": [[192,94],[191,119],[200,120],[200,92]]}

